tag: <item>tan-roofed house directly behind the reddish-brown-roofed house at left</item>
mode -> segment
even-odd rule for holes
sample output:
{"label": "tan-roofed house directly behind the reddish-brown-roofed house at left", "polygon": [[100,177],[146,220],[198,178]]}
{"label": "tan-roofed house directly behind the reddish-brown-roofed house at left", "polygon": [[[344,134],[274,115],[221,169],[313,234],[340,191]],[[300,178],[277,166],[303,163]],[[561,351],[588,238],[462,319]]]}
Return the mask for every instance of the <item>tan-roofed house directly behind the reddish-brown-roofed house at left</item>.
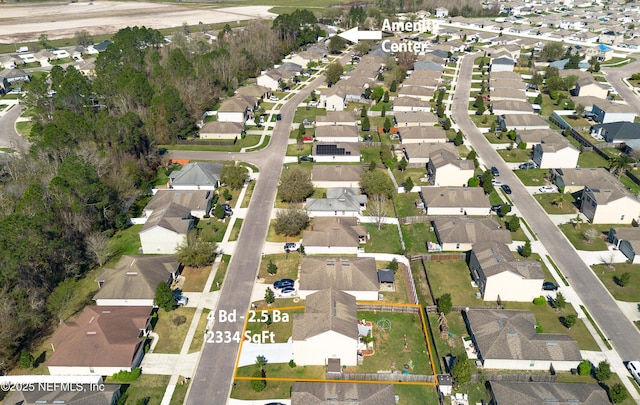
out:
{"label": "tan-roofed house directly behind the reddish-brown-roofed house at left", "polygon": [[173,256],[122,256],[96,279],[93,300],[98,306],[151,307],[158,284],[171,285],[181,270]]}

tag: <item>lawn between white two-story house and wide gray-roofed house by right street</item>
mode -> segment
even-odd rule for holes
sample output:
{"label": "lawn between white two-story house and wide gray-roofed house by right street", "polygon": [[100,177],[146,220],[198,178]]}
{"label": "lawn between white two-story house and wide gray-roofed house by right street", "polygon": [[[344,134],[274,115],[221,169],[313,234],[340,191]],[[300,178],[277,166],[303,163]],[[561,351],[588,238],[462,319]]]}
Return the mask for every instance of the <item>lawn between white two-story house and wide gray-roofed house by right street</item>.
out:
{"label": "lawn between white two-story house and wide gray-roofed house by right street", "polygon": [[575,339],[580,350],[600,351],[600,347],[596,341],[593,340],[583,319],[578,319],[578,322],[571,329],[567,329],[560,322],[561,317],[576,315],[576,311],[571,305],[567,305],[566,308],[561,311],[556,311],[551,308],[549,304],[544,306],[533,305],[533,303],[529,302],[508,302],[504,304],[505,309],[524,309],[533,312],[536,316],[537,324],[542,327],[543,333],[563,333]]}

